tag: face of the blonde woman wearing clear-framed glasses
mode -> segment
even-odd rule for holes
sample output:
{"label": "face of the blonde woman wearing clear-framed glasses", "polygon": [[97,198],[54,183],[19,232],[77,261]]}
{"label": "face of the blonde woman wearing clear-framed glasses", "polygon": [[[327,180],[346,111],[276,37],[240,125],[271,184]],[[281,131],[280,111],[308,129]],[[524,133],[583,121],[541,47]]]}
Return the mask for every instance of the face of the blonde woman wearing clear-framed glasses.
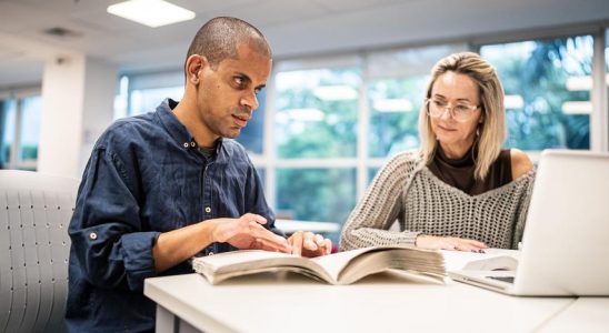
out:
{"label": "face of the blonde woman wearing clear-framed glasses", "polygon": [[458,112],[456,109],[473,109],[480,105],[480,92],[476,81],[466,74],[446,72],[433,83],[429,103],[429,108],[442,110],[439,115],[429,118],[431,129],[445,152],[467,152],[482,120],[481,108],[469,112],[466,119],[459,121],[453,115]]}

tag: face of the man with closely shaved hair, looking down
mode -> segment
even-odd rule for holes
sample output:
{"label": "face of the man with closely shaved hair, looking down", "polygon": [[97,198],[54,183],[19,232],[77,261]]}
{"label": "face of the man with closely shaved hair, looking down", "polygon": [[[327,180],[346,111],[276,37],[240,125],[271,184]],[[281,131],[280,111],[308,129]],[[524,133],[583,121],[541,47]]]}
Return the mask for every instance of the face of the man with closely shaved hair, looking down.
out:
{"label": "face of the man with closely shaved hair, looking down", "polygon": [[237,138],[258,108],[258,92],[264,88],[272,60],[242,43],[237,59],[224,59],[216,70],[201,69],[197,94],[202,125],[217,137]]}

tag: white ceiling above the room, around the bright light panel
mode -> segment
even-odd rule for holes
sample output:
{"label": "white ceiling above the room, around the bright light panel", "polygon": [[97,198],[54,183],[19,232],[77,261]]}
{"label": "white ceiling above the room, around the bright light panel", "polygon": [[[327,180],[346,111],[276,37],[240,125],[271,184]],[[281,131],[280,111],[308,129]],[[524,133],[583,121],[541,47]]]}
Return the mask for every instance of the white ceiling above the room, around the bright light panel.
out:
{"label": "white ceiling above the room, around the bright light panel", "polygon": [[[257,26],[276,58],[609,21],[609,0],[169,1],[197,19],[152,29],[108,14],[119,0],[0,0],[0,89],[39,82],[43,61],[67,51],[122,72],[180,68],[194,32],[217,16]],[[43,33],[54,27],[76,36]]]}

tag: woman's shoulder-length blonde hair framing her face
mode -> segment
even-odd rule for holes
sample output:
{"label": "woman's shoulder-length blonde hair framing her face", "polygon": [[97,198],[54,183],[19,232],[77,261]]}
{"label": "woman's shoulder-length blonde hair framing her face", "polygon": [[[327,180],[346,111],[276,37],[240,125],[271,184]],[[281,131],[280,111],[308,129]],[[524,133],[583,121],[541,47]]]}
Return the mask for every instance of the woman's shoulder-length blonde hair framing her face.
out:
{"label": "woman's shoulder-length blonde hair framing her face", "polygon": [[[427,85],[426,98],[431,98],[433,83],[441,74],[455,72],[471,78],[479,88],[481,123],[478,124],[478,138],[473,144],[478,144],[476,158],[475,179],[483,180],[501,151],[501,144],[506,140],[506,111],[503,107],[503,88],[497,77],[497,71],[479,54],[461,52],[450,54],[433,65],[431,79]],[[423,163],[428,164],[433,159],[438,141],[431,130],[427,103],[423,103],[419,114],[419,135],[421,139],[421,154]]]}

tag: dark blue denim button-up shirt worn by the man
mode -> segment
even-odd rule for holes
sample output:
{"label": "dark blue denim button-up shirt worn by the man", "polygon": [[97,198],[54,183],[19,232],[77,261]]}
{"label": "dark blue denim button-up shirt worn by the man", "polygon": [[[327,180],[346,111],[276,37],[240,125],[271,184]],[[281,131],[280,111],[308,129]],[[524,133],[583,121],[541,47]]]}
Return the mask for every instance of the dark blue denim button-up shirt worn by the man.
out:
{"label": "dark blue denim button-up shirt worn by the man", "polygon": [[[246,150],[220,139],[206,161],[171,111],[114,122],[99,139],[84,170],[69,233],[72,240],[66,321],[72,332],[154,329],[154,302],[143,280],[191,273],[188,262],[158,274],[152,246],[161,232],[208,219],[260,214],[273,228],[262,185]],[[203,250],[224,252],[227,243]]]}

